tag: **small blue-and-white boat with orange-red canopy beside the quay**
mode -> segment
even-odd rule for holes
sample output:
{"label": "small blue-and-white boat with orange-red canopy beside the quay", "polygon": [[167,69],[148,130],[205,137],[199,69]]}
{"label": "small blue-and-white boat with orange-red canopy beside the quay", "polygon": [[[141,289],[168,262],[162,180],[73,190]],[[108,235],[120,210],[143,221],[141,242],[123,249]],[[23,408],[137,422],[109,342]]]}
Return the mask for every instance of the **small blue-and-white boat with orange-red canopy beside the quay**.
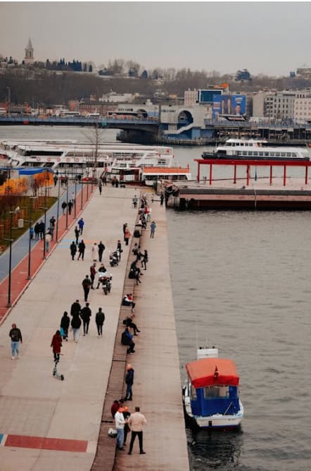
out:
{"label": "small blue-and-white boat with orange-red canopy beside the quay", "polygon": [[243,405],[239,374],[232,360],[218,357],[217,348],[199,348],[198,360],[186,364],[188,381],[183,388],[184,410],[203,429],[240,427]]}

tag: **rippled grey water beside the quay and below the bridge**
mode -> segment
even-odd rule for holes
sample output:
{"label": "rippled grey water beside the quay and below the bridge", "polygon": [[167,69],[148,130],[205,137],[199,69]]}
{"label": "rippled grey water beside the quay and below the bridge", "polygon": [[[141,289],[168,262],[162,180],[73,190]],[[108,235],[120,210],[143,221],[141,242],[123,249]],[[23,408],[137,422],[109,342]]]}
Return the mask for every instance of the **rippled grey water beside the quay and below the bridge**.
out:
{"label": "rippled grey water beside the quay and below the bridge", "polygon": [[[0,127],[0,139],[85,140],[85,132]],[[202,151],[174,154],[194,176]],[[241,432],[186,430],[191,470],[310,470],[310,212],[167,216],[182,380],[197,345],[215,345],[237,364],[245,410]]]}

